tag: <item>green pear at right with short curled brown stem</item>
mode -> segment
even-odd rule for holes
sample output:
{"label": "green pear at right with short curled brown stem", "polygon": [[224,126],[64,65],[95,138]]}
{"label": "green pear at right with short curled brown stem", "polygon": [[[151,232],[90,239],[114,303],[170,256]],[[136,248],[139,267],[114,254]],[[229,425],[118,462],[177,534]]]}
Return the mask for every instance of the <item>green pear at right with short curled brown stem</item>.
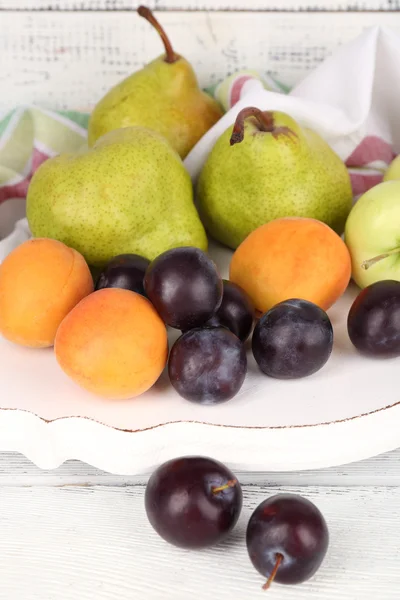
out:
{"label": "green pear at right with short curled brown stem", "polygon": [[196,196],[206,229],[233,249],[280,217],[318,219],[342,234],[353,200],[344,163],[319,135],[253,107],[217,140]]}

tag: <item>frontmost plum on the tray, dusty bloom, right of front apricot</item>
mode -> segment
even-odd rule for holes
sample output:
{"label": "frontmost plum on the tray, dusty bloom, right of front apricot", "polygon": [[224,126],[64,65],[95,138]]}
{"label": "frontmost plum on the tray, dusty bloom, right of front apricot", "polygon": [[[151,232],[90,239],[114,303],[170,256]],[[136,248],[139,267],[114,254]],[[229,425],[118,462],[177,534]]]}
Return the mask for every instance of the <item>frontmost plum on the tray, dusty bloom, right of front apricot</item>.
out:
{"label": "frontmost plum on the tray, dusty bloom, right of front apricot", "polygon": [[244,345],[224,327],[187,331],[172,346],[168,361],[169,378],[178,394],[200,404],[233,398],[246,372]]}

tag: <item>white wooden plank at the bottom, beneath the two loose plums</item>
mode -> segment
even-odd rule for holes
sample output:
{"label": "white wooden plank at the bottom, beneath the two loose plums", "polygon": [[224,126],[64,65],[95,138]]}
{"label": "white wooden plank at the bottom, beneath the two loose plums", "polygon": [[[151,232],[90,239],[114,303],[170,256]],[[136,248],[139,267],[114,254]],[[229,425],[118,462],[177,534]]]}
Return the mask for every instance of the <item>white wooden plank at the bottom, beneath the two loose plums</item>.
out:
{"label": "white wooden plank at the bottom, beneath the two loose plums", "polygon": [[201,552],[167,545],[150,527],[140,487],[0,488],[0,597],[7,600],[265,598],[244,542],[254,508],[300,493],[324,514],[330,546],[301,586],[276,600],[397,600],[400,488],[244,487],[240,521]]}

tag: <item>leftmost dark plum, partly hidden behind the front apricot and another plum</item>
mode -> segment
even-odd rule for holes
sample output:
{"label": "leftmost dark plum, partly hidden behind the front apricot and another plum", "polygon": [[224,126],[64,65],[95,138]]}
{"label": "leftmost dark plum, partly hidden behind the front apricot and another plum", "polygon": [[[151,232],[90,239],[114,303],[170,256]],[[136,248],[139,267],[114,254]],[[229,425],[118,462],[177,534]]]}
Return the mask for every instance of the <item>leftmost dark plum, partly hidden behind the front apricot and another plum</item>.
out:
{"label": "leftmost dark plum, partly hidden behind the front apricot and another plum", "polygon": [[138,254],[119,254],[100,273],[96,290],[123,288],[145,296],[143,279],[150,261]]}

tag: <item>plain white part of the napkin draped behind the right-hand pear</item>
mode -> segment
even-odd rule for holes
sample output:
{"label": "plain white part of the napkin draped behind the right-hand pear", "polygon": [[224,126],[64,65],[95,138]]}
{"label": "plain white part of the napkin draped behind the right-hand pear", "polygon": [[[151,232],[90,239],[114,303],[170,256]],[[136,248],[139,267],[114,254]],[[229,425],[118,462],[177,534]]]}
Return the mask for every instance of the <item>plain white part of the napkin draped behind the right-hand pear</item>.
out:
{"label": "plain white part of the napkin draped behind the right-hand pear", "polygon": [[321,135],[345,160],[366,135],[376,135],[400,152],[400,37],[373,27],[341,46],[288,95],[251,80],[233,108],[185,159],[196,181],[219,136],[247,106],[287,112]]}

